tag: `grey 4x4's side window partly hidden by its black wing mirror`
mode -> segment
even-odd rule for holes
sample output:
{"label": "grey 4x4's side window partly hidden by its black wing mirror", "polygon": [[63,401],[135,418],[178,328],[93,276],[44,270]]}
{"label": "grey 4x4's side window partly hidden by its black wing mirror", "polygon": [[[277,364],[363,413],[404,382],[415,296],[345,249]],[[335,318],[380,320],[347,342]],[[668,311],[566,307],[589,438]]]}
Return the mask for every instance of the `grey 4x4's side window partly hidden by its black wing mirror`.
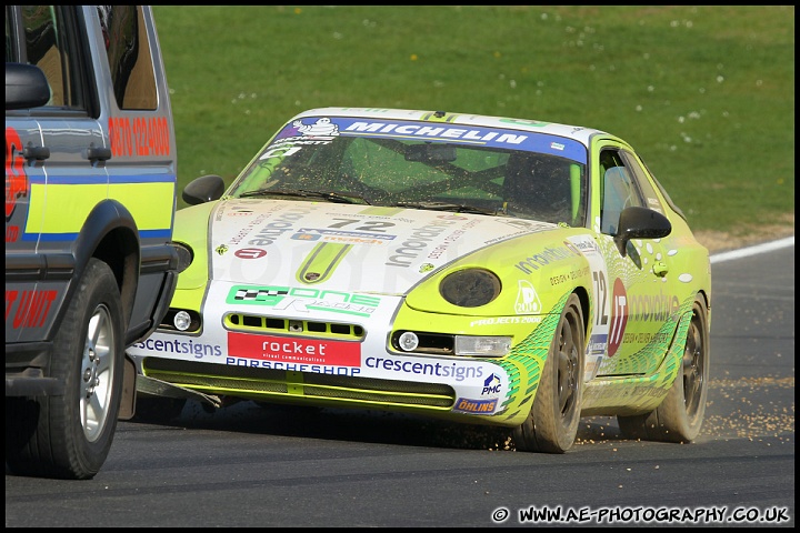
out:
{"label": "grey 4x4's side window partly hidden by its black wing mirror", "polygon": [[20,14],[24,46],[20,61],[36,64],[44,72],[51,92],[48,104],[83,109],[80,91],[74,87],[77,80],[70,72],[73,52],[58,6],[22,6]]}

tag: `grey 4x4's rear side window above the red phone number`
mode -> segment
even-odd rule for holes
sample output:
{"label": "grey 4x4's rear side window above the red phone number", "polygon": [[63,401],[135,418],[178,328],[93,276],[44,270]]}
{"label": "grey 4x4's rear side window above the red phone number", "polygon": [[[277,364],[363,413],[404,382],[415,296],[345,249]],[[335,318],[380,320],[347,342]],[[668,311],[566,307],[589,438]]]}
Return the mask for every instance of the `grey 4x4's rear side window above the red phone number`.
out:
{"label": "grey 4x4's rear side window above the red phone number", "polygon": [[117,105],[158,108],[150,42],[139,6],[98,6]]}

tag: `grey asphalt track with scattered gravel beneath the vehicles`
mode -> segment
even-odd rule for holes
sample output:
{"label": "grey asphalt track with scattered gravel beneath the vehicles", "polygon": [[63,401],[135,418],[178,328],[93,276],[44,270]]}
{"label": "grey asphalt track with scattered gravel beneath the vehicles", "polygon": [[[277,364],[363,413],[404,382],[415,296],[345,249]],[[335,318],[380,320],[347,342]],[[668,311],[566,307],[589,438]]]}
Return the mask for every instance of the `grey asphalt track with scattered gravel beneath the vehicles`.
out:
{"label": "grey asphalt track with scattered gravel beneath the vehicles", "polygon": [[570,452],[531,454],[507,431],[404,415],[189,403],[121,422],[91,481],[6,475],[6,526],[793,526],[794,239],[714,255],[712,275],[692,444],[592,418]]}

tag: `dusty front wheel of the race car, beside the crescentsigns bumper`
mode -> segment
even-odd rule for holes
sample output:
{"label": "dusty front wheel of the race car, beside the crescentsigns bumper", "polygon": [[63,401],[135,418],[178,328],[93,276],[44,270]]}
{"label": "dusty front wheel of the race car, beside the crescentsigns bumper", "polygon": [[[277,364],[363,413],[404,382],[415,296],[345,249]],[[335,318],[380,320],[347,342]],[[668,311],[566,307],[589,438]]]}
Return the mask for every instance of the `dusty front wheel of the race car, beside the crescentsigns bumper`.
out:
{"label": "dusty front wheel of the race car, beside the crescentsigns bumper", "polygon": [[564,453],[574,443],[583,398],[583,312],[570,295],[561,312],[528,419],[514,429],[518,451]]}

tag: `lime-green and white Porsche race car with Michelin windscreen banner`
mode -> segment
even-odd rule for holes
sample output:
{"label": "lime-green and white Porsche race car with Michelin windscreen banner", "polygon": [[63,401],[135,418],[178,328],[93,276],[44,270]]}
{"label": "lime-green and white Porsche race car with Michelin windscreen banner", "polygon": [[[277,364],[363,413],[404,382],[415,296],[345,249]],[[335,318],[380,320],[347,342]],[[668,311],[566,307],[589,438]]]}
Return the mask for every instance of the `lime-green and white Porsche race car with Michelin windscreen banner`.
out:
{"label": "lime-green and white Porsche race car with Michelin windscreen banner", "polygon": [[614,135],[316,109],[227,190],[206,175],[183,199],[189,265],[130,349],[142,395],[397,410],[554,453],[586,415],[630,438],[700,430],[708,250]]}

